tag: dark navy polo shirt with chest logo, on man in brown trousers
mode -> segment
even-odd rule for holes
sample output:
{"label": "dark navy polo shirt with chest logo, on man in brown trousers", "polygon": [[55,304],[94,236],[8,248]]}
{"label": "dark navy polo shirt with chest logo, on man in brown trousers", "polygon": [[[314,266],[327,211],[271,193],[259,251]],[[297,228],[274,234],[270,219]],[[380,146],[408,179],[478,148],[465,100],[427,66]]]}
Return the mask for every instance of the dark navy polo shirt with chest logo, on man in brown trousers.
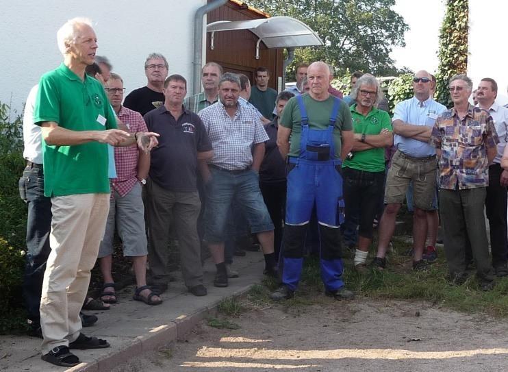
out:
{"label": "dark navy polo shirt with chest logo, on man in brown trousers", "polygon": [[161,106],[144,115],[150,132],[160,134],[150,156],[150,178],[166,190],[197,190],[197,153],[212,150],[212,142],[199,116],[183,110],[178,121]]}

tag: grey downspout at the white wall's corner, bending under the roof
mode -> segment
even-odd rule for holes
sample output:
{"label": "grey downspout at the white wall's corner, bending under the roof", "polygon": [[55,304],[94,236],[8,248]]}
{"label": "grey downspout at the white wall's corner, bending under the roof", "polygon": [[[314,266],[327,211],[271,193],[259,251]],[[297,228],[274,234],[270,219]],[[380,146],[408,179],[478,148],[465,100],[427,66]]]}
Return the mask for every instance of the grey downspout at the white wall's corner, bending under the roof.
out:
{"label": "grey downspout at the white wall's corner, bending under the roof", "polygon": [[224,5],[228,0],[214,0],[194,14],[194,58],[192,60],[192,94],[201,92],[201,62],[203,59],[203,21],[205,14]]}

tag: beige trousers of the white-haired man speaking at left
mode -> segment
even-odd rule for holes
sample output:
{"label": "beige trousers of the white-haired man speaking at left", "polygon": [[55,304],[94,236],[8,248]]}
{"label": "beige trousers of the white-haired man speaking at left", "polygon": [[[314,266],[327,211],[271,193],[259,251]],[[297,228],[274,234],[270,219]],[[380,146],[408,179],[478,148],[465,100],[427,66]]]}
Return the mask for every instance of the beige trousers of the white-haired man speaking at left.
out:
{"label": "beige trousers of the white-haired man speaking at left", "polygon": [[79,311],[104,235],[110,194],[52,197],[51,203],[51,253],[40,299],[42,354],[79,336]]}

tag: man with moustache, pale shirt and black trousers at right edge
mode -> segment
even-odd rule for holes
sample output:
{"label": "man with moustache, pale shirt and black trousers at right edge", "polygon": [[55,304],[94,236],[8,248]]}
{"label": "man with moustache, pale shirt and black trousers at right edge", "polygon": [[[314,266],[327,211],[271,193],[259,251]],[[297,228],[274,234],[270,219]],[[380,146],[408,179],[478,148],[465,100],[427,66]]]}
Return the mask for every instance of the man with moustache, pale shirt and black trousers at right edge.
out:
{"label": "man with moustache, pale shirt and black trousers at right edge", "polygon": [[508,170],[501,168],[500,162],[508,140],[508,108],[498,105],[498,84],[494,79],[481,79],[477,89],[477,99],[480,108],[486,110],[492,120],[499,138],[498,153],[494,163],[489,166],[489,186],[485,207],[490,226],[490,249],[492,251],[492,266],[498,277],[508,275],[507,254],[507,186]]}

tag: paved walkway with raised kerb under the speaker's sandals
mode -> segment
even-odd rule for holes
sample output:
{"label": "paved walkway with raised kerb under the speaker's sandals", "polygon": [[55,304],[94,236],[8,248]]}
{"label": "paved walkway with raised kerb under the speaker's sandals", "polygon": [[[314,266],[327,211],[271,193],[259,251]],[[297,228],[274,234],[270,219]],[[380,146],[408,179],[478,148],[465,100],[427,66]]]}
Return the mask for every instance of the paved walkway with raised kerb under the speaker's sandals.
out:
{"label": "paved walkway with raised kerb under the speaker's sandals", "polygon": [[119,303],[110,310],[87,312],[97,314],[99,321],[94,327],[84,328],[86,335],[105,338],[112,347],[73,351],[81,364],[71,369],[42,361],[39,338],[0,336],[0,371],[110,371],[130,358],[182,339],[201,319],[214,314],[220,301],[240,295],[259,283],[264,269],[262,252],[247,252],[246,257],[236,257],[233,268],[240,271],[240,277],[229,280],[227,288],[215,288],[212,285],[215,266],[207,261],[204,270],[208,295],[204,297],[188,293],[180,277],[162,295],[164,303],[159,306],[134,301],[134,286],[119,291]]}

